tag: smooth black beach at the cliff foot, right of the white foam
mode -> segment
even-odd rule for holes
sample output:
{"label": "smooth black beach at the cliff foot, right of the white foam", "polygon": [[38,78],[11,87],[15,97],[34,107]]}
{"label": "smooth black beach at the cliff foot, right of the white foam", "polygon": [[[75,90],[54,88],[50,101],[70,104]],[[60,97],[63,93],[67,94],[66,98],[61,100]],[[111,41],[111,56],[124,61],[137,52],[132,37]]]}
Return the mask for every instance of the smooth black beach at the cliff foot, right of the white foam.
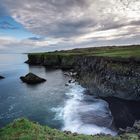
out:
{"label": "smooth black beach at the cliff foot, right of the white foam", "polygon": [[135,120],[140,120],[140,101],[127,101],[114,97],[103,99],[109,104],[116,128],[132,127]]}

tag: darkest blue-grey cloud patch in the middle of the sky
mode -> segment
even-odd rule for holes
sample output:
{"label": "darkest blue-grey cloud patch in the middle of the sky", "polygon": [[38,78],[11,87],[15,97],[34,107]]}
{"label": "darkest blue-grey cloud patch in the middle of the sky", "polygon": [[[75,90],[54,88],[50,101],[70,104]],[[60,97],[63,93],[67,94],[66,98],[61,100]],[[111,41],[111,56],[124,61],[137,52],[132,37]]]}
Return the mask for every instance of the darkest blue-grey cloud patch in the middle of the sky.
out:
{"label": "darkest blue-grey cloud patch in the middle of the sky", "polygon": [[46,34],[52,37],[75,37],[88,33],[87,28],[96,26],[97,23],[93,20],[80,20],[80,21],[65,21],[57,23],[57,27],[48,28]]}

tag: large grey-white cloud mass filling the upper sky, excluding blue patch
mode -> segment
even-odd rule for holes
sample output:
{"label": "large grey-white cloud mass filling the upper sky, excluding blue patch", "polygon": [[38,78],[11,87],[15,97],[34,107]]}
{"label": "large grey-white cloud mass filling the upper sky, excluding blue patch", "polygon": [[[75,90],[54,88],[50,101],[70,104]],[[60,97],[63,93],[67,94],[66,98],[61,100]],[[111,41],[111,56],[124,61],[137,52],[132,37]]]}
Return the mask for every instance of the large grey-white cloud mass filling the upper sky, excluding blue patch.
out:
{"label": "large grey-white cloud mass filling the upper sky, excluding blue patch", "polygon": [[[11,15],[32,33],[38,46],[85,46],[135,43],[140,35],[139,0],[0,0]],[[49,41],[50,39],[50,41]],[[123,41],[124,40],[124,41]],[[24,40],[25,41],[25,40]],[[23,41],[23,43],[24,43]],[[99,42],[100,41],[100,42]],[[27,42],[27,40],[25,41]],[[49,42],[49,43],[48,43]],[[140,43],[140,41],[139,41]],[[62,47],[63,48],[63,47]]]}

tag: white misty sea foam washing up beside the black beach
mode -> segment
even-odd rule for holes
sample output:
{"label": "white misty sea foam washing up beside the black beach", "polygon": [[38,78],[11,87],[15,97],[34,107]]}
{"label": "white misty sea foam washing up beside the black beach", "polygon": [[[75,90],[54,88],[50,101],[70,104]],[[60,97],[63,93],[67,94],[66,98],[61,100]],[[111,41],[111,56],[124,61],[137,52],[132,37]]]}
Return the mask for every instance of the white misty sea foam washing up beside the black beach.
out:
{"label": "white misty sea foam washing up beside the black beach", "polygon": [[[115,135],[116,132],[109,129],[112,118],[108,104],[99,99],[93,102],[85,101],[84,91],[85,89],[80,85],[70,84],[66,93],[68,99],[64,106],[53,108],[56,112],[55,119],[64,121],[62,130],[89,135],[99,133]],[[105,126],[102,126],[102,123]]]}

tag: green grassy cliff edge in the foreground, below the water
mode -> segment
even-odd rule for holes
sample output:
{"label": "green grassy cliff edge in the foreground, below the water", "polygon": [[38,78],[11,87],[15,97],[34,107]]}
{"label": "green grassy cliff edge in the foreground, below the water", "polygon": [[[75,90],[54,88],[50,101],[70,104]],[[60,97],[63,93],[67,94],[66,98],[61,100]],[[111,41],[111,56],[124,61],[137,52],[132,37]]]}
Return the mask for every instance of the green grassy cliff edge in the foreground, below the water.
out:
{"label": "green grassy cliff edge in the foreground, below the water", "polygon": [[0,129],[0,140],[139,140],[139,135],[127,133],[121,136],[87,136],[61,132],[48,126],[41,126],[27,119],[18,119]]}

